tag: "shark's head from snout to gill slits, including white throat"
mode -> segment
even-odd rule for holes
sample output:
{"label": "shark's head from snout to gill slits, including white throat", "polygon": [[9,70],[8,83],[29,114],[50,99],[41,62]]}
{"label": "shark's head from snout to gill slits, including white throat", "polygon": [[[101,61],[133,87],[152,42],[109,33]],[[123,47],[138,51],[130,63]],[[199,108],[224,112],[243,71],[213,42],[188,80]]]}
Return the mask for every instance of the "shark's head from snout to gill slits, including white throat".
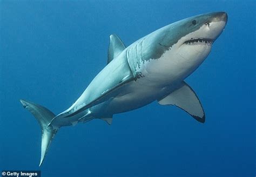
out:
{"label": "shark's head from snout to gill slits, including white throat", "polygon": [[[148,66],[150,68],[147,70],[160,74],[169,72],[166,76],[170,76],[173,75],[171,72],[175,68],[173,72],[180,73],[180,77],[184,79],[208,56],[226,23],[227,13],[214,12],[164,26],[142,39],[141,60],[164,61]],[[169,70],[171,68],[172,71]]]}

